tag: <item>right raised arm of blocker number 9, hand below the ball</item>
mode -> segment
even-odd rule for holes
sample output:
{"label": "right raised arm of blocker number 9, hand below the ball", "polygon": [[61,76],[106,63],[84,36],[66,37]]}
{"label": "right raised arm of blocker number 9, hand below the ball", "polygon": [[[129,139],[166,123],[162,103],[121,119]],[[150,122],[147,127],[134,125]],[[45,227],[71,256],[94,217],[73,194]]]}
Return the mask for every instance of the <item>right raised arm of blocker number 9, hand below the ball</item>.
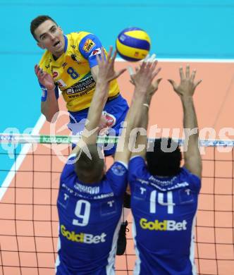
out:
{"label": "right raised arm of blocker number 9, hand below the ball", "polygon": [[[132,82],[135,85],[135,92],[133,94],[132,103],[128,114],[125,118],[126,129],[122,131],[121,138],[118,141],[115,161],[123,161],[128,163],[130,155],[133,151],[134,140],[130,141],[130,132],[135,127],[139,127],[142,121],[142,110],[145,108],[143,104],[146,102],[147,91],[152,85],[154,77],[159,73],[161,68],[156,69],[157,61],[145,62],[143,61],[140,69],[135,75],[131,76]],[[157,84],[160,80],[157,80]]]}

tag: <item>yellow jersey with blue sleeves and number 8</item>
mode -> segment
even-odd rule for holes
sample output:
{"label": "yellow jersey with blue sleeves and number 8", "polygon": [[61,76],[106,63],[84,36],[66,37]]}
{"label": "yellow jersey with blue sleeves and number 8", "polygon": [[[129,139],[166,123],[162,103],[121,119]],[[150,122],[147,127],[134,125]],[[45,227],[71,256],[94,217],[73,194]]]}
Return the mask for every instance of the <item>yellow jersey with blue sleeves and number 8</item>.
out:
{"label": "yellow jersey with blue sleeves and number 8", "polygon": [[[66,101],[68,111],[80,111],[90,107],[95,90],[95,81],[90,68],[97,65],[96,55],[101,54],[101,42],[90,32],[72,32],[64,35],[64,53],[55,59],[46,51],[39,61],[39,68],[49,73]],[[42,102],[47,100],[47,89],[42,87]],[[116,80],[111,81],[109,97],[119,93]]]}

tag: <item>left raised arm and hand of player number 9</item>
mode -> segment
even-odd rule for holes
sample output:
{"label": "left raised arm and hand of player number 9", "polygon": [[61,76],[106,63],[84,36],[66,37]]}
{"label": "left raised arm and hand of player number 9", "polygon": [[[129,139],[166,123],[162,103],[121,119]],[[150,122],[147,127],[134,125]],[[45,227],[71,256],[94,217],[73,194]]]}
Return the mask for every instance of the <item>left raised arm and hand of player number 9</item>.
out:
{"label": "left raised arm and hand of player number 9", "polygon": [[[101,57],[97,56],[99,71],[97,75],[97,83],[92,102],[90,104],[89,112],[87,115],[87,123],[85,123],[85,129],[82,133],[82,138],[78,142],[78,145],[73,150],[74,153],[78,153],[81,143],[95,144],[97,142],[97,135],[99,133],[99,122],[101,119],[101,112],[104,109],[106,97],[109,92],[109,82],[116,79],[125,72],[125,68],[121,71],[114,71],[114,61],[116,59],[116,51],[112,55],[113,48],[111,47],[106,59],[104,59],[104,49],[101,49]],[[84,143],[85,142],[85,143]]]}

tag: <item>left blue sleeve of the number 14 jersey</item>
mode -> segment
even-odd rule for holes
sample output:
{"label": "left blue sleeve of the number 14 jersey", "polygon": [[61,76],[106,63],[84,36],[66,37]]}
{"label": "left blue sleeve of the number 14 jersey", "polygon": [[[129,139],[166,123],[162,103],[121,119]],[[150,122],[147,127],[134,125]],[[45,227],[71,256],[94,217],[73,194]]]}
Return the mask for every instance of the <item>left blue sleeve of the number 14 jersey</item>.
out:
{"label": "left blue sleeve of the number 14 jersey", "polygon": [[141,156],[135,156],[130,159],[128,164],[128,181],[133,183],[135,179],[144,174],[146,164]]}

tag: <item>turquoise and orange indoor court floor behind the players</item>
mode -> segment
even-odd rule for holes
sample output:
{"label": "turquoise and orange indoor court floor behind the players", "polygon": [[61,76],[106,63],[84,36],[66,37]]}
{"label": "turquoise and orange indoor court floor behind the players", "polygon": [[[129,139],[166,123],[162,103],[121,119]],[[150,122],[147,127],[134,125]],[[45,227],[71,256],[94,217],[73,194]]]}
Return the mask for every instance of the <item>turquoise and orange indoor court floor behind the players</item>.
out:
{"label": "turquoise and orange indoor court floor behind the players", "polygon": [[[123,28],[142,27],[152,39],[151,53],[159,57],[164,78],[152,102],[150,124],[182,127],[182,108],[166,79],[178,80],[178,67],[190,63],[197,69],[197,78],[203,79],[195,95],[199,128],[213,127],[216,135],[210,138],[219,138],[223,127],[233,128],[233,11],[234,1],[0,1],[0,132],[23,133],[37,126],[34,133],[49,133],[49,123],[39,119],[41,91],[33,69],[42,51],[29,31],[32,18],[48,14],[65,33],[93,32],[106,48],[115,44]],[[116,64],[128,65],[121,61]],[[119,84],[130,101],[133,87],[128,79],[125,73]],[[64,109],[62,100],[60,103]],[[56,124],[57,135],[68,134],[61,130],[66,121],[63,116]],[[232,135],[230,132],[229,137]],[[54,274],[58,231],[55,202],[62,164],[52,149],[39,145],[35,154],[25,158],[21,154],[23,163],[18,165],[20,160],[15,163],[14,154],[6,155],[11,146],[4,146],[0,182],[9,188],[0,188],[0,274]],[[63,151],[68,154],[68,149]],[[219,153],[207,148],[206,152],[196,228],[197,269],[199,274],[228,275],[234,270],[233,151]],[[18,169],[16,176],[9,172],[12,166],[13,171]],[[117,274],[132,273],[132,240],[128,240],[127,254],[117,257]]]}

